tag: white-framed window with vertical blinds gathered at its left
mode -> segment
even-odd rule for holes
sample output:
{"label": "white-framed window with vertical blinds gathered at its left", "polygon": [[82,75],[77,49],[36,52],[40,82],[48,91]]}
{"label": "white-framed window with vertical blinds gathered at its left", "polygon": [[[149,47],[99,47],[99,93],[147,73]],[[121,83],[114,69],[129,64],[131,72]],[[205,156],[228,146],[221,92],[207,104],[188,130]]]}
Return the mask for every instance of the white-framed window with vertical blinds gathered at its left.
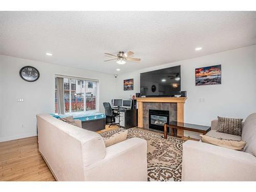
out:
{"label": "white-framed window with vertical blinds gathered at its left", "polygon": [[[66,113],[98,110],[97,81],[63,78],[63,88]],[[55,80],[55,113],[58,113],[57,97],[57,81]]]}

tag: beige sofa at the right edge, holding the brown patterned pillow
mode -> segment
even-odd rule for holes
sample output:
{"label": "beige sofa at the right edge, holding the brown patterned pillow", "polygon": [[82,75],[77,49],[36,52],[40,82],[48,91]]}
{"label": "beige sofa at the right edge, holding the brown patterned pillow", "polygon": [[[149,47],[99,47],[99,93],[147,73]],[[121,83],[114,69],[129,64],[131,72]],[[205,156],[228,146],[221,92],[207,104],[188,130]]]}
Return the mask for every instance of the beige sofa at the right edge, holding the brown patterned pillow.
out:
{"label": "beige sofa at the right edge, holding the brown patterned pillow", "polygon": [[246,141],[244,151],[230,150],[208,143],[183,144],[182,181],[256,181],[256,113],[242,126],[242,137],[217,132],[218,120],[211,122],[206,135]]}

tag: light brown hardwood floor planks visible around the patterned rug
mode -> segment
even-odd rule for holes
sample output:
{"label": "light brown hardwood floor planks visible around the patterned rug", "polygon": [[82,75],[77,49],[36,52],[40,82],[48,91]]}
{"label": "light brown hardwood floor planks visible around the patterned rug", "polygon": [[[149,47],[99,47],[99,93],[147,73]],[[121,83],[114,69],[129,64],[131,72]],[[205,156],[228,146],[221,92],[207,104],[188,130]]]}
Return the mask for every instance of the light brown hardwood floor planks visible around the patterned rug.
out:
{"label": "light brown hardwood floor planks visible around the patterned rug", "polygon": [[[97,133],[117,128],[106,125]],[[37,137],[0,142],[0,181],[55,181],[38,151]]]}

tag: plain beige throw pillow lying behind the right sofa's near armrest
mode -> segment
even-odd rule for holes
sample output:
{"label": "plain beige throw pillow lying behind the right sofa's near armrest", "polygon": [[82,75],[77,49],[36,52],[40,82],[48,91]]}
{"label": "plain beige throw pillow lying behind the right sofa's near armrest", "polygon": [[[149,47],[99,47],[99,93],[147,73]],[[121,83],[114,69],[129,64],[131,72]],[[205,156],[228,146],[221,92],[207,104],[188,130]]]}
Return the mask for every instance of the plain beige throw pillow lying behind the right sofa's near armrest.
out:
{"label": "plain beige throw pillow lying behind the right sofa's near armrest", "polygon": [[207,135],[199,135],[199,136],[201,137],[201,140],[203,143],[209,143],[209,144],[214,144],[217,146],[231,148],[232,150],[243,151],[244,146],[246,144],[245,141],[236,141],[236,140],[232,140],[232,139],[215,138],[215,137],[210,137]]}

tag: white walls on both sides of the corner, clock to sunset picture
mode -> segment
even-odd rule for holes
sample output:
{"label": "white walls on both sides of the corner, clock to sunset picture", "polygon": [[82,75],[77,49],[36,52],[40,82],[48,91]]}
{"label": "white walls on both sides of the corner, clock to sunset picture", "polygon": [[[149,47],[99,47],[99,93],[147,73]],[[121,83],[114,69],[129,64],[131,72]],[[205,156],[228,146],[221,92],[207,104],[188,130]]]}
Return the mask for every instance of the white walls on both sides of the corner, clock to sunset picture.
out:
{"label": "white walls on both sides of the corner, clock to sunset picture", "polygon": [[[218,64],[222,65],[222,84],[196,87],[195,68]],[[26,82],[19,77],[20,68],[27,65],[39,70],[37,81]],[[105,73],[0,55],[0,141],[36,135],[35,115],[54,112],[55,74],[99,79],[99,110],[103,112],[102,102],[130,98],[139,92],[140,73],[177,65],[181,65],[181,89],[187,91],[188,97],[186,122],[209,125],[210,120],[218,115],[246,118],[256,112],[255,45],[121,74],[117,78]],[[123,80],[129,78],[134,78],[134,91],[123,91]],[[16,102],[17,98],[25,101]],[[199,102],[199,98],[205,98],[205,102]]]}

